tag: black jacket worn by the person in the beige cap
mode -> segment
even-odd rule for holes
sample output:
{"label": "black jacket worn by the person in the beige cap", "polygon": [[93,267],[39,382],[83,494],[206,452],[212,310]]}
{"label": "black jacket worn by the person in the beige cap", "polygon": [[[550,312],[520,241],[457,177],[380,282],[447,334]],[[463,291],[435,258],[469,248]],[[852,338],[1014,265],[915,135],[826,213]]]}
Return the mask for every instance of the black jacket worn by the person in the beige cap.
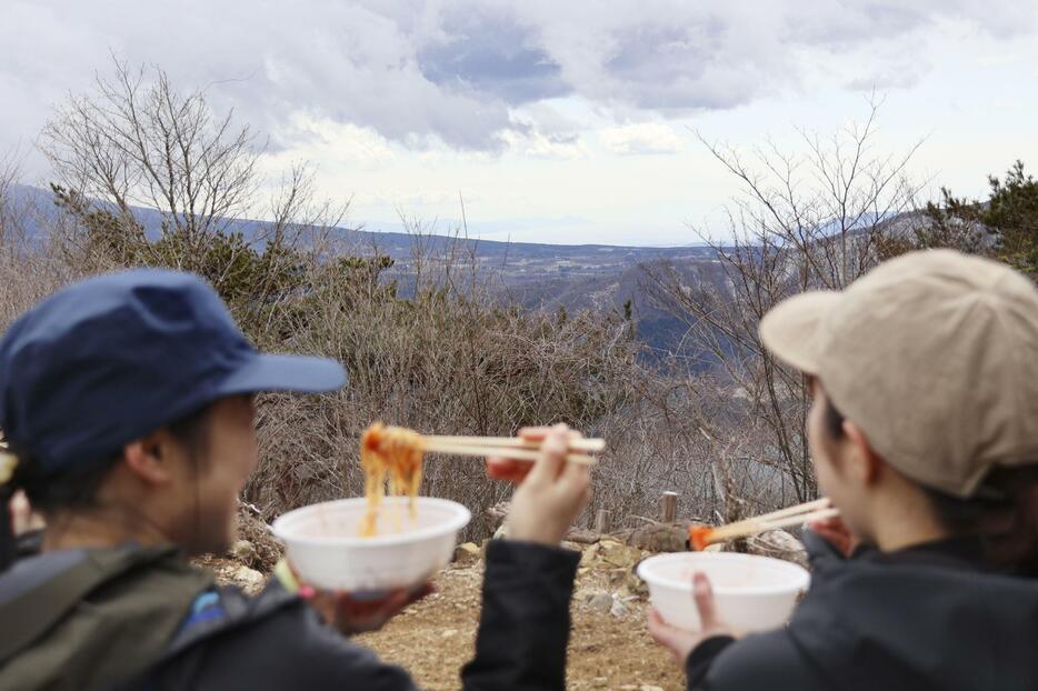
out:
{"label": "black jacket worn by the person in the beige cap", "polygon": [[703,641],[690,690],[1038,689],[1038,581],[984,569],[972,541],[849,560],[810,542],[811,589],[789,625]]}

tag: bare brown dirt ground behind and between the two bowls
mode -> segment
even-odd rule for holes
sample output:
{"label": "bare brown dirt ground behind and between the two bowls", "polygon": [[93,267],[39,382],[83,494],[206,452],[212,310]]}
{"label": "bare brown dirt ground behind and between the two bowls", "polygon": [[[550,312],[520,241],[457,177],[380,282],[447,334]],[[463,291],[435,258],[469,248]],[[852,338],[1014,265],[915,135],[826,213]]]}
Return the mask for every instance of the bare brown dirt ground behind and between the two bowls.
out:
{"label": "bare brown dirt ground behind and between the two bowls", "polygon": [[[206,557],[198,563],[211,569],[221,582],[257,592],[280,559],[281,547],[258,512],[246,504],[238,513],[238,538],[229,553]],[[685,688],[681,670],[646,632],[645,585],[633,574],[637,563],[651,552],[678,549],[680,544],[675,548],[639,539],[628,535],[626,542],[607,538],[595,544],[566,543],[581,551],[571,603],[569,689]],[[475,649],[481,555],[473,544],[460,548],[458,560],[436,578],[437,593],[408,608],[381,631],[359,637],[358,642],[383,660],[410,670],[419,685],[429,691],[459,689],[459,672]]]}

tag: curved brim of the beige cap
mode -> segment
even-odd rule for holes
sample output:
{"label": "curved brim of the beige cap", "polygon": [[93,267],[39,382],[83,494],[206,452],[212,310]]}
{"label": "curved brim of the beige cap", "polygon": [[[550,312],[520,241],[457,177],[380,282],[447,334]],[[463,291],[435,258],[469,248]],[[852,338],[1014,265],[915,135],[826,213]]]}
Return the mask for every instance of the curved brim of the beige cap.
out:
{"label": "curved brim of the beige cap", "polygon": [[760,320],[760,340],[776,358],[807,374],[818,374],[821,321],[842,294],[806,292],[778,303]]}

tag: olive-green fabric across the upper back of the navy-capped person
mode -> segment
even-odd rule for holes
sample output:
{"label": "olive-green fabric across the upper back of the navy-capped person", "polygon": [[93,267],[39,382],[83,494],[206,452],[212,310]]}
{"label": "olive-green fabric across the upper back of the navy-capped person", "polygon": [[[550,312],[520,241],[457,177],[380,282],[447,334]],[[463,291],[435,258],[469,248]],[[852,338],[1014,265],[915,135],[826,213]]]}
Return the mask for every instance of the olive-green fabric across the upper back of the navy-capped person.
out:
{"label": "olive-green fabric across the upper back of the navy-capped person", "polygon": [[108,688],[139,675],[162,658],[192,601],[213,584],[211,573],[172,547],[27,561],[33,563],[0,577],[4,691]]}

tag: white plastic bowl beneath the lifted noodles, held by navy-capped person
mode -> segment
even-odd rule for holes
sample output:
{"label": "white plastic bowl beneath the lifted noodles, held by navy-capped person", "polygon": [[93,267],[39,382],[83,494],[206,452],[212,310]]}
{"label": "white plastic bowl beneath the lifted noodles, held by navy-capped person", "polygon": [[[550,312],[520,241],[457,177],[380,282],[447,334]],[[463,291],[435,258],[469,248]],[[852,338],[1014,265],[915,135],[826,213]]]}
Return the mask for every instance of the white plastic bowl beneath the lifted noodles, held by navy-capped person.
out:
{"label": "white plastic bowl beneath the lifted noodles, held by navy-capped person", "polygon": [[300,580],[325,590],[378,592],[410,588],[446,567],[458,532],[472,514],[446,499],[418,497],[410,517],[406,498],[382,500],[378,533],[358,534],[367,500],[340,499],[279,517],[273,533]]}

